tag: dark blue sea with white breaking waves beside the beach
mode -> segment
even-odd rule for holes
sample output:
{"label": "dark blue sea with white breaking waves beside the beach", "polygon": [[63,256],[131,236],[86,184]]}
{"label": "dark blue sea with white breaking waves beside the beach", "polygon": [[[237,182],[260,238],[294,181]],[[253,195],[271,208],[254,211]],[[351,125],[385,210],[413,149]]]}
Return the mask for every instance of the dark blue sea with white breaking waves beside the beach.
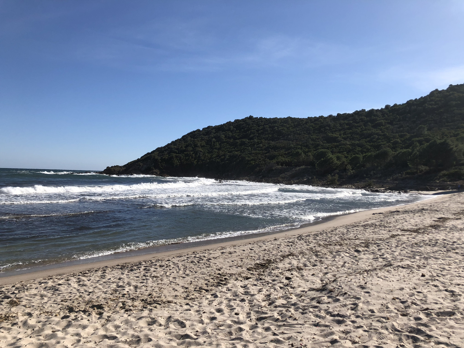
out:
{"label": "dark blue sea with white breaking waves beside the beach", "polygon": [[248,238],[426,198],[200,177],[0,168],[0,275],[156,252],[166,245]]}

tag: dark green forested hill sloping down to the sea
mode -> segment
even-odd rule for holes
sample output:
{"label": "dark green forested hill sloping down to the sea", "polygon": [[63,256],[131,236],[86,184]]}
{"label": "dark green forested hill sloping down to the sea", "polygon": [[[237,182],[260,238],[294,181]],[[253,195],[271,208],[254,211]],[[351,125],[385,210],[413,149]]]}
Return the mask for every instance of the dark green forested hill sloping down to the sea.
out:
{"label": "dark green forested hill sloping down to the sea", "polygon": [[[245,117],[190,132],[104,174],[251,180],[464,179],[464,84],[382,109]],[[274,180],[275,181],[275,180]]]}

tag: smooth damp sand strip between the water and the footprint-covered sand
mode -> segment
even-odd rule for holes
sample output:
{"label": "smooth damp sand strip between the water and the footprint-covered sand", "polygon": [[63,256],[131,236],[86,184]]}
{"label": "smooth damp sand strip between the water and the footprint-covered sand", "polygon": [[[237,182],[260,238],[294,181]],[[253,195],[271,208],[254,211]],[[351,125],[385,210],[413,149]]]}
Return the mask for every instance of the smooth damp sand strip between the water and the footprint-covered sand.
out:
{"label": "smooth damp sand strip between the water and the footprint-covered sand", "polygon": [[384,213],[390,210],[404,207],[418,205],[423,202],[429,201],[434,198],[438,198],[444,194],[456,193],[456,191],[440,191],[440,192],[423,192],[415,191],[411,193],[419,193],[422,195],[433,196],[424,200],[420,200],[414,203],[403,204],[399,206],[391,206],[384,208],[376,208],[363,210],[355,213],[346,213],[342,215],[329,216],[322,218],[321,220],[304,224],[304,226],[299,226],[295,228],[288,228],[284,230],[274,231],[274,232],[261,232],[261,233],[250,233],[242,236],[226,237],[226,238],[216,238],[216,239],[206,239],[194,242],[178,243],[178,244],[168,244],[160,245],[148,248],[142,248],[133,251],[123,251],[119,253],[112,253],[108,255],[103,255],[94,258],[86,258],[82,260],[71,260],[58,262],[53,264],[47,264],[43,266],[30,267],[21,270],[6,271],[0,273],[0,286],[6,284],[13,284],[15,282],[28,281],[32,279],[56,276],[59,274],[72,273],[76,271],[84,271],[98,267],[104,266],[114,266],[116,264],[129,263],[129,262],[138,262],[143,260],[148,260],[155,257],[164,257],[176,254],[190,253],[193,251],[204,251],[208,249],[215,249],[229,245],[240,245],[247,242],[253,242],[258,240],[267,240],[270,238],[279,238],[283,236],[295,236],[303,233],[314,233],[319,232],[327,228],[339,227],[343,225],[352,224],[354,222],[359,222],[364,219],[367,219],[373,211],[377,213]]}

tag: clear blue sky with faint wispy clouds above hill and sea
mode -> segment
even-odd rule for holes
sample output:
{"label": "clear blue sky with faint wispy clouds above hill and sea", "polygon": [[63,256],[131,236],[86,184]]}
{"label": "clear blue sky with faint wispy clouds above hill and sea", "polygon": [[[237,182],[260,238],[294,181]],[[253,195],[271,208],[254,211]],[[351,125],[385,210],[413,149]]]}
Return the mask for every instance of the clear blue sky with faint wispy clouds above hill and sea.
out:
{"label": "clear blue sky with faint wispy clouds above hill and sea", "polygon": [[464,83],[463,1],[0,1],[0,167],[98,170],[248,115]]}

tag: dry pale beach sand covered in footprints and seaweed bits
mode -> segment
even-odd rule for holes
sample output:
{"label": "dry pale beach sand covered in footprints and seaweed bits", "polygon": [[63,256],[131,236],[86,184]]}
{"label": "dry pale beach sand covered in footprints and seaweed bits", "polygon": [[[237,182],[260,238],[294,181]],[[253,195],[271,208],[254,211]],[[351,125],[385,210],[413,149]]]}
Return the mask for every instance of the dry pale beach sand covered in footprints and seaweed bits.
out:
{"label": "dry pale beach sand covered in footprints and seaweed bits", "polygon": [[463,199],[3,285],[0,346],[464,347]]}

